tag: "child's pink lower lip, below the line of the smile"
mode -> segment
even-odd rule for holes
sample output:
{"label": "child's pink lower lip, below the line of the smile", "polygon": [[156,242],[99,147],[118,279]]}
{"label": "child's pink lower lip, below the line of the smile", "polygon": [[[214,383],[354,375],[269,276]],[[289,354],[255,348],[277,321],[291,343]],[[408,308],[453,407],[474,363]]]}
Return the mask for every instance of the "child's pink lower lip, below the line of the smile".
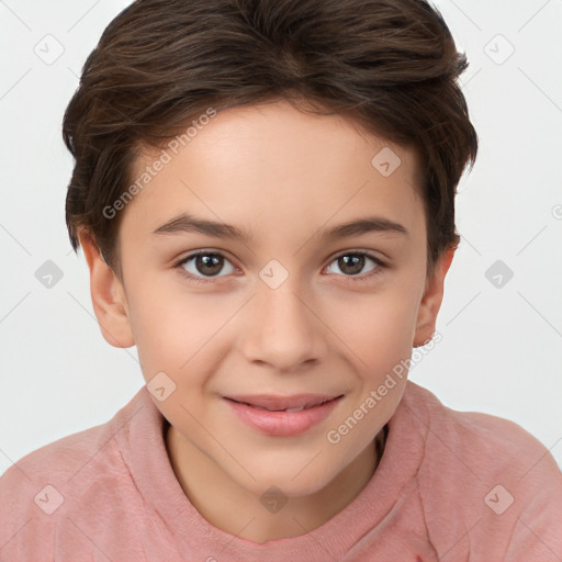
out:
{"label": "child's pink lower lip, below the line of the smile", "polygon": [[290,437],[303,434],[324,422],[341,397],[339,396],[319,406],[305,408],[301,412],[269,412],[268,409],[258,409],[248,404],[241,404],[228,398],[224,400],[226,400],[235,414],[244,423],[262,434]]}

